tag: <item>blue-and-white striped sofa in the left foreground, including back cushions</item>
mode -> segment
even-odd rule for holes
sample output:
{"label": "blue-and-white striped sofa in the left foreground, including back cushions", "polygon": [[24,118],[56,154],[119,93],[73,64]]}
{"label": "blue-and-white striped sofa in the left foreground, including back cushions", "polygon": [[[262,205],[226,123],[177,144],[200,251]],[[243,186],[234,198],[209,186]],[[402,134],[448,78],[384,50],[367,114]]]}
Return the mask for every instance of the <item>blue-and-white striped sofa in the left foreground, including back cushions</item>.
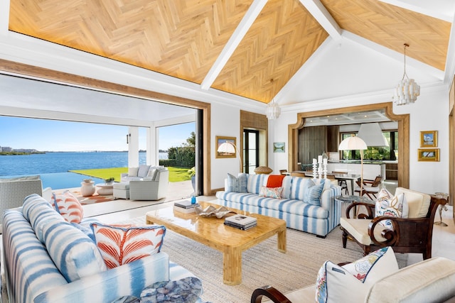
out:
{"label": "blue-and-white striped sofa in the left foreground, including back cushions", "polygon": [[[163,252],[106,270],[97,246],[83,232],[84,224],[93,220],[82,219],[76,228],[49,206],[32,194],[21,208],[4,212],[4,270],[10,302],[113,302],[139,297],[154,282],[194,277],[169,262]],[[84,258],[79,258],[82,253]],[[86,254],[94,258],[85,258]],[[69,275],[68,282],[70,263],[80,275]]]}

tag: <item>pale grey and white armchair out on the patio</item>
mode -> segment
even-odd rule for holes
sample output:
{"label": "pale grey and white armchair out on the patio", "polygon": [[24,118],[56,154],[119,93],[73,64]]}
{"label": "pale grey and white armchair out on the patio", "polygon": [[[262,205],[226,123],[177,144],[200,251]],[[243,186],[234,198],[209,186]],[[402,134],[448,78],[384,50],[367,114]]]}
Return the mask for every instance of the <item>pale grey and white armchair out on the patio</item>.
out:
{"label": "pale grey and white armchair out on the patio", "polygon": [[130,200],[159,200],[168,193],[169,171],[156,170],[153,180],[129,181]]}

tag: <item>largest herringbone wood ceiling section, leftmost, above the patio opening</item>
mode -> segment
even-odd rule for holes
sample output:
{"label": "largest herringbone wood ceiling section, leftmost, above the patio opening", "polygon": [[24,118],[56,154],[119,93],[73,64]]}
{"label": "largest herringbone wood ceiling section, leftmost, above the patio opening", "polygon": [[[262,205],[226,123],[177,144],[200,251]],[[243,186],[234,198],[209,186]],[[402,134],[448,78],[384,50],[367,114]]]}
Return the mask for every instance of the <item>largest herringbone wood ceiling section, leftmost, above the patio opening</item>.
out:
{"label": "largest herringbone wood ceiling section, leftmost, above the patio opening", "polygon": [[9,29],[203,81],[252,0],[11,0]]}

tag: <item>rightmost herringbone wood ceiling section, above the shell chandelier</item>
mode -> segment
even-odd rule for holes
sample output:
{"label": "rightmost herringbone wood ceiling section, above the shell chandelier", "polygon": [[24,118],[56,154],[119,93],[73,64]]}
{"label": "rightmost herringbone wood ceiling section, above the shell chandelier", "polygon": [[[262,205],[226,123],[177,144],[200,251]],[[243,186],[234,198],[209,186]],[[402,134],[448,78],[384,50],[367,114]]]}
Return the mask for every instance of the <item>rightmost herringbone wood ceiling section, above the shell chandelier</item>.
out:
{"label": "rightmost herringbone wood ceiling section, above the shell chandelier", "polygon": [[444,70],[451,23],[372,0],[321,0],[338,25],[397,52]]}

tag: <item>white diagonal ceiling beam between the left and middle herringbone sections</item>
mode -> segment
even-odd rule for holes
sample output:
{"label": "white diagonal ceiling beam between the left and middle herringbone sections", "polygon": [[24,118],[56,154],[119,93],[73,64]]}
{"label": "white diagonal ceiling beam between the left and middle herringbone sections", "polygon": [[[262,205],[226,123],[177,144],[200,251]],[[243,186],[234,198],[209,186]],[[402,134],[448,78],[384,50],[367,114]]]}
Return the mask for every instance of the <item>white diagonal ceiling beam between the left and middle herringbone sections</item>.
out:
{"label": "white diagonal ceiling beam between the left and middle herringbone sections", "polygon": [[242,21],[240,21],[237,28],[235,28],[234,33],[226,43],[225,47],[221,51],[220,55],[216,59],[215,63],[212,65],[210,70],[208,71],[207,75],[203,79],[203,82],[200,84],[201,89],[209,89],[213,82],[215,81],[216,77],[220,74],[223,67],[225,67],[226,62],[228,62],[232,53],[234,53],[235,49],[239,45],[240,41],[242,41],[243,37],[245,37],[247,31],[252,26],[252,23],[255,22],[257,16],[264,8],[265,4],[267,4],[267,0],[254,0],[248,9],[245,16],[243,16]]}

